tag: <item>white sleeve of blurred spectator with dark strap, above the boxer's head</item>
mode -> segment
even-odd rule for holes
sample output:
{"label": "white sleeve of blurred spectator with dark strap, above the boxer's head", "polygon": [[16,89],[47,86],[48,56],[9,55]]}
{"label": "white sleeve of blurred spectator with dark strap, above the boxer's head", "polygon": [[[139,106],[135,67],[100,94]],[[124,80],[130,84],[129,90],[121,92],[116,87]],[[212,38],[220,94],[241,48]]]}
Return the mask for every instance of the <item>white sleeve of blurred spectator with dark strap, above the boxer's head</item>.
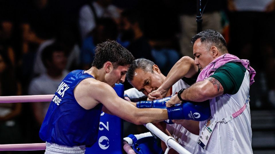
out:
{"label": "white sleeve of blurred spectator with dark strap, above the boxer's head", "polygon": [[82,40],[95,26],[95,17],[91,8],[89,5],[84,5],[79,11],[79,31]]}

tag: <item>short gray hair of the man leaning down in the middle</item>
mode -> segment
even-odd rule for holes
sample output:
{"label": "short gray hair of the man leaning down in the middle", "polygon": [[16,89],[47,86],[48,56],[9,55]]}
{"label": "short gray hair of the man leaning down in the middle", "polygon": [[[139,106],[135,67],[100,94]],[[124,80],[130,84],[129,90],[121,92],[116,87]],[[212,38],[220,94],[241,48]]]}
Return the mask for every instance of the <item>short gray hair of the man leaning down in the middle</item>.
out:
{"label": "short gray hair of the man leaning down in the middle", "polygon": [[153,73],[153,65],[155,63],[152,62],[151,60],[144,59],[144,58],[139,58],[136,59],[129,67],[127,73],[126,73],[126,78],[129,81],[133,80],[133,77],[135,75],[135,70],[138,68],[141,68],[144,72],[152,72]]}

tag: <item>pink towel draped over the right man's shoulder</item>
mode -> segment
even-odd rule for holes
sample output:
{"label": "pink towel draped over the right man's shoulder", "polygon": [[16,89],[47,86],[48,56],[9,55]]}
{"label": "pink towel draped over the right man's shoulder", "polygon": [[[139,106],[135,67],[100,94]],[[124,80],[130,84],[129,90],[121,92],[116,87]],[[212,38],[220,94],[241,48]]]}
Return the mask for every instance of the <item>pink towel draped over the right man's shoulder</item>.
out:
{"label": "pink towel draped over the right man's shoulder", "polygon": [[254,82],[254,76],[256,74],[255,70],[250,67],[249,60],[245,59],[239,59],[237,56],[234,56],[232,54],[223,54],[219,56],[217,59],[213,60],[210,64],[208,64],[201,73],[199,74],[197,78],[197,82],[203,81],[209,76],[213,74],[217,70],[217,68],[221,67],[222,65],[228,63],[228,62],[239,62],[241,63],[249,72],[250,75],[250,85]]}

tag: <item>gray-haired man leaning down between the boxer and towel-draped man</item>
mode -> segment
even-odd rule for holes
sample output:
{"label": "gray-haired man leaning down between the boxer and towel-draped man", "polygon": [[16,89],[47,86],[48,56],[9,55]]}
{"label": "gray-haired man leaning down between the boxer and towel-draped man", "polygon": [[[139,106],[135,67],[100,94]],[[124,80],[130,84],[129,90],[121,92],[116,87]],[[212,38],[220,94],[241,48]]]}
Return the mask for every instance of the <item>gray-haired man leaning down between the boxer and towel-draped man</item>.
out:
{"label": "gray-haired man leaning down between the boxer and towel-draped man", "polygon": [[[170,72],[174,72],[174,70],[182,71],[171,76]],[[184,56],[174,65],[170,72],[168,76],[165,77],[154,62],[144,58],[136,59],[126,73],[127,80],[135,88],[125,91],[125,99],[131,100],[132,102],[146,99],[146,96],[148,96],[150,92],[165,84],[166,79],[174,78],[175,76],[176,78],[180,77],[174,85],[168,88],[167,94],[165,94],[166,97],[173,96],[177,94],[180,89],[190,87],[190,85],[197,80],[198,67],[195,66],[192,58]],[[198,135],[195,134],[199,133],[199,122],[192,120],[176,120],[174,122],[174,124],[167,125],[167,129],[165,123],[158,124],[157,127],[167,135],[174,137],[180,145],[193,153],[194,145],[198,139]],[[192,125],[195,125],[197,129],[189,129],[189,127],[195,127]],[[166,149],[164,142],[162,142],[162,148]]]}

